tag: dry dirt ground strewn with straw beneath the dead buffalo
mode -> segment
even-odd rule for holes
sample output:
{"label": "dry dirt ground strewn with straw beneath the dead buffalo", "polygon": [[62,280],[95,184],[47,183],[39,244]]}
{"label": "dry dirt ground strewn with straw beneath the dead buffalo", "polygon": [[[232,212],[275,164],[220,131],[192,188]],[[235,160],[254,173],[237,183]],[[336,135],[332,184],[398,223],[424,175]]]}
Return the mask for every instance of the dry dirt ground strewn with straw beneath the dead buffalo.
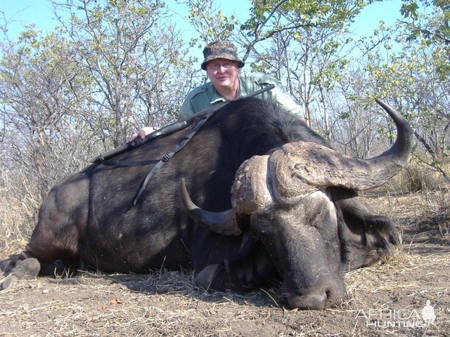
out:
{"label": "dry dirt ground strewn with straw beneath the dead buffalo", "polygon": [[[205,292],[188,272],[85,272],[0,291],[0,336],[450,336],[450,220],[448,212],[430,217],[423,200],[371,198],[398,223],[402,244],[396,256],[347,274],[338,308],[290,310],[276,288]],[[0,253],[3,272],[12,253]],[[431,324],[422,314],[428,300]]]}

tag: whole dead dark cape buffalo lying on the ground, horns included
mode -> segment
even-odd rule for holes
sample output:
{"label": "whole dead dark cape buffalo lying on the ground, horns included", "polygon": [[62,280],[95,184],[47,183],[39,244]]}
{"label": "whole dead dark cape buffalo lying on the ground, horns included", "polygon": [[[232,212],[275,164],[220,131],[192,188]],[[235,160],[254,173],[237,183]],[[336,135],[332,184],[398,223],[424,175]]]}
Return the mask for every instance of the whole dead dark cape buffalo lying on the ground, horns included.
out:
{"label": "whole dead dark cape buffalo lying on the ground, horns included", "polygon": [[406,121],[378,103],[397,125],[397,140],[373,159],[339,154],[296,117],[244,98],[212,114],[146,185],[152,166],[203,114],[113,162],[91,164],[51,189],[27,259],[11,275],[32,270],[36,259],[81,260],[105,272],[190,268],[205,289],[276,281],[293,308],[339,305],[342,273],[380,260],[397,243],[390,220],[356,192],[392,178],[411,152]]}

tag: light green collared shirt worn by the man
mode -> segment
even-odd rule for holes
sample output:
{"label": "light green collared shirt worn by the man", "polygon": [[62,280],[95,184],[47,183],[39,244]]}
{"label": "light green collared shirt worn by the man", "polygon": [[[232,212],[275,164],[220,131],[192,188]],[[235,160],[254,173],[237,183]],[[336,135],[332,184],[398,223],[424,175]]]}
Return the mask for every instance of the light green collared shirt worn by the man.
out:
{"label": "light green collared shirt worn by the man", "polygon": [[[257,98],[266,100],[269,102],[274,102],[278,107],[281,107],[292,114],[297,115],[299,118],[304,117],[300,105],[294,100],[294,98],[289,95],[287,91],[281,85],[281,82],[269,75],[262,74],[259,72],[240,72],[239,73],[239,88],[238,88],[238,98],[242,98],[250,93],[254,93],[259,89],[268,86],[269,84],[274,84],[275,88],[264,91],[257,95]],[[212,86],[212,82],[209,81],[188,93],[183,104],[181,105],[181,110],[179,112],[178,119],[186,119],[186,117],[200,112],[202,110],[211,107],[214,104],[224,102],[223,98]]]}

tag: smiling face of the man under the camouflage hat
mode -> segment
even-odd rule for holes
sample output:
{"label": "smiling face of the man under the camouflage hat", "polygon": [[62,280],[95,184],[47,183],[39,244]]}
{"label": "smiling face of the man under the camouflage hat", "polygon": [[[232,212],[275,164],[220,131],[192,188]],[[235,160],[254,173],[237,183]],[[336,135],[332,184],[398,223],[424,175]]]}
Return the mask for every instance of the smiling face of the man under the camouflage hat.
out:
{"label": "smiling face of the man under the camouflage hat", "polygon": [[217,91],[221,88],[237,88],[238,79],[238,62],[226,60],[225,58],[217,58],[206,64],[206,72],[212,85]]}

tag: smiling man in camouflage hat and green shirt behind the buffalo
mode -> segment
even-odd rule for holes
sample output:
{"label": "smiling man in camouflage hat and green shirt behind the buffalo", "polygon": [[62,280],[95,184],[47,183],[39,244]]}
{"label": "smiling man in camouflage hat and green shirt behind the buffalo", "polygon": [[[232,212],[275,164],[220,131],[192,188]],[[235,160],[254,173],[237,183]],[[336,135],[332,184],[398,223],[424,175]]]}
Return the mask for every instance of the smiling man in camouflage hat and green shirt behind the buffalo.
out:
{"label": "smiling man in camouflage hat and green shirt behind the buffalo", "polygon": [[[238,58],[237,48],[231,42],[214,41],[205,47],[203,55],[205,60],[202,62],[202,69],[206,70],[210,81],[188,93],[181,105],[179,120],[186,119],[217,103],[236,100],[274,84],[275,88],[265,91],[257,97],[273,102],[306,122],[300,105],[285,91],[280,81],[262,73],[239,71],[245,63]],[[138,133],[131,136],[129,141],[137,137],[143,139],[152,131],[153,128],[150,127],[141,128]]]}

